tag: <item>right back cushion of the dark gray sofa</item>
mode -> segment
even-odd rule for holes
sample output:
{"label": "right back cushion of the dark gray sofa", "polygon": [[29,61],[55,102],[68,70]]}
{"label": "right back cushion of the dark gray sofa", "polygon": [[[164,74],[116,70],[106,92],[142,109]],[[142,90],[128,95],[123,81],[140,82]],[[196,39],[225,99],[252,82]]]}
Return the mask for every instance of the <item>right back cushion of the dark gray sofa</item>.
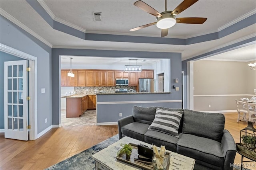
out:
{"label": "right back cushion of the dark gray sofa", "polygon": [[221,113],[204,113],[185,109],[182,133],[220,142],[224,125],[225,116]]}

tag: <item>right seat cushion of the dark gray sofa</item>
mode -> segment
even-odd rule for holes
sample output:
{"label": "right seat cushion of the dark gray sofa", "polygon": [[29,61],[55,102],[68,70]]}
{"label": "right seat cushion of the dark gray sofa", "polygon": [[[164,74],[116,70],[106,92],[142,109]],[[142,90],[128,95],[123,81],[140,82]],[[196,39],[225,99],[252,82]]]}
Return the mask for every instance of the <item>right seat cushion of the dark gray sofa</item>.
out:
{"label": "right seat cushion of the dark gray sofa", "polygon": [[177,153],[219,167],[222,167],[224,162],[221,143],[190,134],[182,134],[180,136],[177,142]]}

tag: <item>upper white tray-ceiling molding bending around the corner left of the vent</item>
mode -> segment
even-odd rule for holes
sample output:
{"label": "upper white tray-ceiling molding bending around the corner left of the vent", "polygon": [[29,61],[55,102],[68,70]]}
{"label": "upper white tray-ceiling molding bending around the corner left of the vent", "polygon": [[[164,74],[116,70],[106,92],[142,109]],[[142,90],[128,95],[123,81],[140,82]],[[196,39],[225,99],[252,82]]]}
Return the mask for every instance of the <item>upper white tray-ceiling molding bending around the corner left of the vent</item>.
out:
{"label": "upper white tray-ceiling molding bending around the corner left of the vent", "polygon": [[69,27],[72,27],[74,29],[77,29],[77,30],[82,31],[82,32],[85,33],[86,29],[56,17],[43,0],[37,0],[37,1],[44,8],[44,10],[47,12],[47,14],[49,14],[49,16],[52,18],[52,20],[57,21],[59,23],[62,23],[64,25],[67,25]]}

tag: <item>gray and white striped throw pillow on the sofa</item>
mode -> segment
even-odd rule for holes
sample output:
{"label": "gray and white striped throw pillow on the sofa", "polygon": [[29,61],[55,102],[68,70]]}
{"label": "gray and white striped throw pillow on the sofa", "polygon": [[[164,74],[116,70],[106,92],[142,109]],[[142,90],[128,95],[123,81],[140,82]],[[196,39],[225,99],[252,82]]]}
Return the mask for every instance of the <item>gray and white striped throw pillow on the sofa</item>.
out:
{"label": "gray and white striped throw pillow on the sofa", "polygon": [[148,127],[148,130],[159,131],[174,137],[179,137],[178,129],[182,114],[183,111],[168,111],[156,108],[155,119],[150,127]]}

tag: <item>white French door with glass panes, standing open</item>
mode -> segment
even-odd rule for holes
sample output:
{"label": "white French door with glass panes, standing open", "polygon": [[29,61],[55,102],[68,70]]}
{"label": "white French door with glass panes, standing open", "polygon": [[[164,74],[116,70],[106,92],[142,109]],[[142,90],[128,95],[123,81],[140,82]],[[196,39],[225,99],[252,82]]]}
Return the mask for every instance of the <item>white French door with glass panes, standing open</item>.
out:
{"label": "white French door with glass panes, standing open", "polygon": [[28,141],[28,61],[4,62],[4,137]]}

